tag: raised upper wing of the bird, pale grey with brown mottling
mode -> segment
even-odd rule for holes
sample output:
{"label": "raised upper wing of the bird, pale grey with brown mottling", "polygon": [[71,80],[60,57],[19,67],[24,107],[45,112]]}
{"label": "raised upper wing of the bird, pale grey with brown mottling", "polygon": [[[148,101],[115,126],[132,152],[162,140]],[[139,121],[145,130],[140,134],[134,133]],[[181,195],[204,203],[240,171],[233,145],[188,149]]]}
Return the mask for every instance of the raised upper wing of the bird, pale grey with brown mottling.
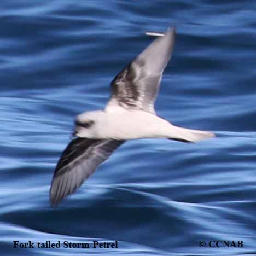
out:
{"label": "raised upper wing of the bird, pale grey with brown mottling", "polygon": [[155,113],[154,102],[174,39],[175,28],[168,28],[112,80],[112,96],[106,109],[119,105]]}

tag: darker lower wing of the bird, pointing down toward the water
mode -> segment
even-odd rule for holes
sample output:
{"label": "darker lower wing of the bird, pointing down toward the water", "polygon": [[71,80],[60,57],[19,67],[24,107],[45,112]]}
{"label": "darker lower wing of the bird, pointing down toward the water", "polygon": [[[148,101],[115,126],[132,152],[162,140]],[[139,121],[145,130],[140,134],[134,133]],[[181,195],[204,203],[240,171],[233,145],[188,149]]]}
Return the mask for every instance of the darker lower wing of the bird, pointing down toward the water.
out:
{"label": "darker lower wing of the bird, pointing down toward the water", "polygon": [[57,163],[50,188],[51,205],[57,205],[87,179],[125,141],[75,138]]}

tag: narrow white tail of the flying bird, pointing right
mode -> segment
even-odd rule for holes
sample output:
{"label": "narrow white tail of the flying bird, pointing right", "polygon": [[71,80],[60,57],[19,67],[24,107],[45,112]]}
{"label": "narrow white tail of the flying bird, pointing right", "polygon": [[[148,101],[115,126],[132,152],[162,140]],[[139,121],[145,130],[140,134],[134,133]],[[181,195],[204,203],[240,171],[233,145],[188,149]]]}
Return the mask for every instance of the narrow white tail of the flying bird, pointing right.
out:
{"label": "narrow white tail of the flying bird, pointing right", "polygon": [[181,142],[199,142],[203,139],[215,137],[214,133],[208,131],[200,131],[186,129],[172,125],[173,136],[168,139]]}

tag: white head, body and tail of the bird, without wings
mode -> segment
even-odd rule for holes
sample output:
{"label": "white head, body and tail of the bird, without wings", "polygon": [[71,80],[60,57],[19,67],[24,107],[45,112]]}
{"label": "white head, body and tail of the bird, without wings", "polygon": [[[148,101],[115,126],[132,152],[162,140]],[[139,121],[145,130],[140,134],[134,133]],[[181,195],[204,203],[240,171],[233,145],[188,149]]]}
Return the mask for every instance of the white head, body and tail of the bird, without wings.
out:
{"label": "white head, body and tail of the bird, without wings", "polygon": [[138,139],[173,138],[197,142],[214,137],[206,131],[184,129],[172,125],[157,115],[141,110],[126,110],[121,107],[109,107],[105,111],[85,112],[78,115],[79,121],[95,120],[90,129],[79,127],[79,137],[94,139]]}

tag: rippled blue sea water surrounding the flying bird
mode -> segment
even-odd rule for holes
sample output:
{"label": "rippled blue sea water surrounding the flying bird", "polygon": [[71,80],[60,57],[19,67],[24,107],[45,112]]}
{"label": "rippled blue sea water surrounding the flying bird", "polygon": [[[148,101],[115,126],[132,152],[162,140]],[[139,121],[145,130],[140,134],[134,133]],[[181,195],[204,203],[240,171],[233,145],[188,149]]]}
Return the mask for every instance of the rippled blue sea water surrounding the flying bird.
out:
{"label": "rippled blue sea water surrounding the flying bird", "polygon": [[[255,1],[1,1],[1,255],[256,255]],[[198,144],[121,146],[77,193],[49,204],[75,115],[177,26],[157,113],[216,132]],[[13,248],[13,241],[118,248]],[[243,248],[199,241],[242,240]]]}

